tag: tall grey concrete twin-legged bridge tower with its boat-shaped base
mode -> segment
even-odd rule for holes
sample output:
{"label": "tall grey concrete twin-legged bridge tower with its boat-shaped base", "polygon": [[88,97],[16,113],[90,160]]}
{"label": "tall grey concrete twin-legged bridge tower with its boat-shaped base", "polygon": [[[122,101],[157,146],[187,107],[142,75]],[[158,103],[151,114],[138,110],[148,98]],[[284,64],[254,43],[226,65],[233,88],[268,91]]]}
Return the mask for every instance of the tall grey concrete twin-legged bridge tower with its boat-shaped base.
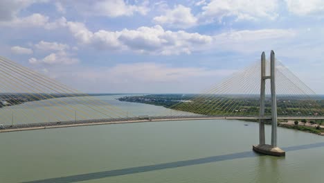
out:
{"label": "tall grey concrete twin-legged bridge tower with its boat-shaped base", "polygon": [[[259,145],[253,146],[258,153],[285,156],[285,151],[277,147],[277,97],[276,97],[276,58],[271,51],[270,55],[270,76],[266,75],[265,53],[261,55],[261,91],[260,91],[260,123],[259,123]],[[271,80],[271,145],[265,143],[264,133],[264,110],[265,110],[265,87],[266,80]]]}

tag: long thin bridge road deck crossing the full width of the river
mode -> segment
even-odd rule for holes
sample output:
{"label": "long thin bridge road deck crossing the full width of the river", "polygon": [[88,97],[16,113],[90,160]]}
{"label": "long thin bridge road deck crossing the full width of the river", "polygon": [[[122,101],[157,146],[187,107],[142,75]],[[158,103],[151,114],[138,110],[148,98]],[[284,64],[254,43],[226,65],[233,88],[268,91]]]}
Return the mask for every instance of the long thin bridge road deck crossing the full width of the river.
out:
{"label": "long thin bridge road deck crossing the full width of the river", "polygon": [[[0,132],[17,132],[25,130],[44,130],[49,128],[68,128],[84,125],[109,125],[120,123],[143,123],[143,122],[158,122],[158,121],[183,121],[183,120],[212,120],[212,119],[239,119],[239,120],[255,120],[255,119],[271,119],[271,117],[260,116],[145,116],[134,118],[120,119],[96,119],[96,120],[80,120],[80,121],[61,121],[50,123],[29,123],[19,125],[4,125]],[[278,117],[278,119],[324,119],[324,117]]]}

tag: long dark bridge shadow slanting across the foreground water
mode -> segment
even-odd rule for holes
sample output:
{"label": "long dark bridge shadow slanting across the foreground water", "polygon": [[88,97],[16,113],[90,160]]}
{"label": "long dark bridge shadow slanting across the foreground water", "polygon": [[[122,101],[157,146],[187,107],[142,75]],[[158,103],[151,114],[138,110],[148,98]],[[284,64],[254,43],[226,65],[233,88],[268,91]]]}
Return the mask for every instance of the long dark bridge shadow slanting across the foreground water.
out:
{"label": "long dark bridge shadow slanting across the foreground water", "polygon": [[[294,151],[294,150],[303,150],[303,149],[309,149],[309,148],[319,148],[324,147],[324,143],[313,143],[308,145],[302,145],[302,146],[291,146],[287,148],[283,148],[286,150],[286,152]],[[263,156],[257,153],[254,153],[252,150],[248,152],[242,152],[242,153],[233,153],[229,155],[218,155],[213,157],[204,157],[199,159],[190,159],[190,160],[184,160],[179,162],[170,162],[170,163],[164,163],[164,164],[154,164],[149,166],[137,166],[132,168],[122,168],[112,171],[102,171],[97,173],[85,173],[81,175],[71,175],[66,177],[56,177],[46,180],[35,180],[30,182],[24,182],[24,183],[69,183],[69,182],[80,182],[80,181],[87,181],[87,180],[96,180],[100,178],[105,177],[115,177],[120,175],[129,175],[134,173],[145,173],[149,171],[159,171],[163,169],[168,168],[178,168],[183,166],[192,166],[197,164],[208,164],[213,162],[221,162],[231,159],[242,159],[247,157],[259,157]]]}

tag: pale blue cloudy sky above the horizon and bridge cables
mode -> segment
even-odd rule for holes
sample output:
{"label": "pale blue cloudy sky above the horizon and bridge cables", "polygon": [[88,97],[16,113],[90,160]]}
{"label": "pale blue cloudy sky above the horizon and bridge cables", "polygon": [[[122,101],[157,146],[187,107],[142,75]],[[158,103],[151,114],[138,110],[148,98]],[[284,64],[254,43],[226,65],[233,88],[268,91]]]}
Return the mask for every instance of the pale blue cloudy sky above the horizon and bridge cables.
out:
{"label": "pale blue cloudy sky above the horizon and bridge cables", "polygon": [[323,0],[1,0],[0,55],[91,93],[197,93],[270,51],[324,94]]}

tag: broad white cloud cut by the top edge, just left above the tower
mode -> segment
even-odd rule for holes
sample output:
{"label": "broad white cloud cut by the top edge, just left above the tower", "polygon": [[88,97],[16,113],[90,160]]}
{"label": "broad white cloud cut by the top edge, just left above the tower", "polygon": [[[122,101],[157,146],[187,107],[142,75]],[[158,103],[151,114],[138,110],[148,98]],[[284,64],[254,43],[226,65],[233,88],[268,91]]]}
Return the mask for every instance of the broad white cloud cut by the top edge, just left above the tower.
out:
{"label": "broad white cloud cut by the top edge, just left above the tower", "polygon": [[211,0],[202,6],[199,15],[201,21],[222,21],[224,17],[235,17],[237,20],[257,20],[278,17],[278,0]]}

